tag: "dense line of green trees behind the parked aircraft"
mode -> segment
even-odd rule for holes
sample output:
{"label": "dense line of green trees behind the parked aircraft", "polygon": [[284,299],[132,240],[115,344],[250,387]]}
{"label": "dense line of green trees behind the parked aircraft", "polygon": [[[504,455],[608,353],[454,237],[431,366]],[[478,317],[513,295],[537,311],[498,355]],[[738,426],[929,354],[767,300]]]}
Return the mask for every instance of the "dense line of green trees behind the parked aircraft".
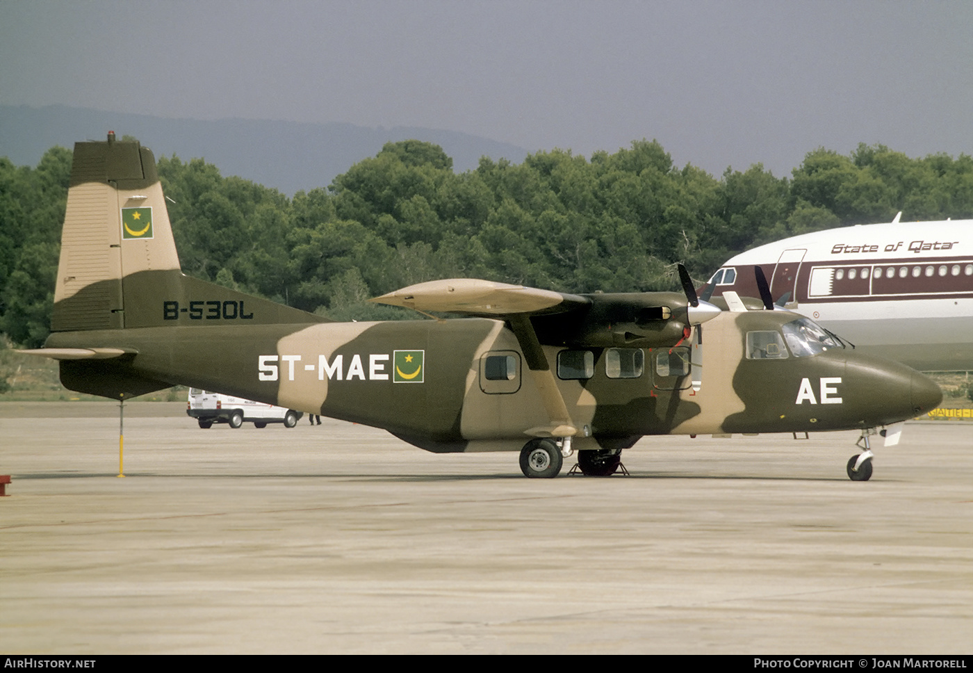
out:
{"label": "dense line of green trees behind the parked aircraft", "polygon": [[[0,330],[48,334],[71,153],[0,158]],[[567,292],[676,289],[731,255],[818,229],[973,218],[973,159],[883,145],[820,148],[790,177],[757,164],[716,178],[656,141],[590,159],[552,150],[455,173],[438,145],[386,144],[328,187],[288,199],[202,160],[159,173],[183,270],[337,319],[395,317],[364,300],[423,280],[483,278]]]}

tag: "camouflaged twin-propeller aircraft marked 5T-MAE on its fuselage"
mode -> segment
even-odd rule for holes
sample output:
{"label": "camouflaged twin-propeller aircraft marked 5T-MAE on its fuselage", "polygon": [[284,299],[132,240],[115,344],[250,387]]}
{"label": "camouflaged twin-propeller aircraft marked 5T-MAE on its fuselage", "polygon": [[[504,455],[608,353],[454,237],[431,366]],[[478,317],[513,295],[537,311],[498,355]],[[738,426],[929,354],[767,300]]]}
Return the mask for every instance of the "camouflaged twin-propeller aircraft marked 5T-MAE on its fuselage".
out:
{"label": "camouflaged twin-propeller aircraft marked 5T-MAE on its fuselage", "polygon": [[184,276],[151,151],[110,133],[75,145],[52,334],[31,353],[74,391],[215,390],[434,453],[520,451],[530,477],[575,451],[612,474],[643,435],[858,429],[847,472],[865,480],[869,434],[941,399],[809,318],[701,302],[680,272],[683,294],[437,280],[373,301],[465,318],[329,321]]}

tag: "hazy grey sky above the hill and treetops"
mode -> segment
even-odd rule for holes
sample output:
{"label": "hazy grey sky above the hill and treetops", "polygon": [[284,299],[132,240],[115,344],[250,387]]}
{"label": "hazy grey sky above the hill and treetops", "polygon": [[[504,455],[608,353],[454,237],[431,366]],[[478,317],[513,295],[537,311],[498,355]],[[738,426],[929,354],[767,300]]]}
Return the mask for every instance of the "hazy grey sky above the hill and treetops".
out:
{"label": "hazy grey sky above the hill and treetops", "polygon": [[973,154],[971,36],[968,1],[0,0],[0,103],[656,138],[781,175],[822,145]]}

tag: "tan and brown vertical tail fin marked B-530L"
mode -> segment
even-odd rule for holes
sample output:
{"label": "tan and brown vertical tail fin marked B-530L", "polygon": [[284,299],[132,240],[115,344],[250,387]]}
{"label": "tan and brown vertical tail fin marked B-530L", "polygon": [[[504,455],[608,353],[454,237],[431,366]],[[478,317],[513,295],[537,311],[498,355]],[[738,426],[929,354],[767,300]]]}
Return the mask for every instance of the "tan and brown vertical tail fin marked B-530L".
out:
{"label": "tan and brown vertical tail fin marked B-530L", "polygon": [[53,332],[325,318],[183,275],[152,151],[75,144]]}

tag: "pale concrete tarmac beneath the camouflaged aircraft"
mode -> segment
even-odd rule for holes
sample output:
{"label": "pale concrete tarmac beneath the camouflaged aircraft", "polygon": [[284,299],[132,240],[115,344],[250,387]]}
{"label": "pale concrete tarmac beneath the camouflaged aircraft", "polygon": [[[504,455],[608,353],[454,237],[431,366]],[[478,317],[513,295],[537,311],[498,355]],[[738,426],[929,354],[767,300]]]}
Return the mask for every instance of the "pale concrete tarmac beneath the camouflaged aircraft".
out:
{"label": "pale concrete tarmac beneath the camouflaged aircraft", "polygon": [[973,425],[655,437],[526,479],[381,430],[0,404],[0,653],[969,654]]}

